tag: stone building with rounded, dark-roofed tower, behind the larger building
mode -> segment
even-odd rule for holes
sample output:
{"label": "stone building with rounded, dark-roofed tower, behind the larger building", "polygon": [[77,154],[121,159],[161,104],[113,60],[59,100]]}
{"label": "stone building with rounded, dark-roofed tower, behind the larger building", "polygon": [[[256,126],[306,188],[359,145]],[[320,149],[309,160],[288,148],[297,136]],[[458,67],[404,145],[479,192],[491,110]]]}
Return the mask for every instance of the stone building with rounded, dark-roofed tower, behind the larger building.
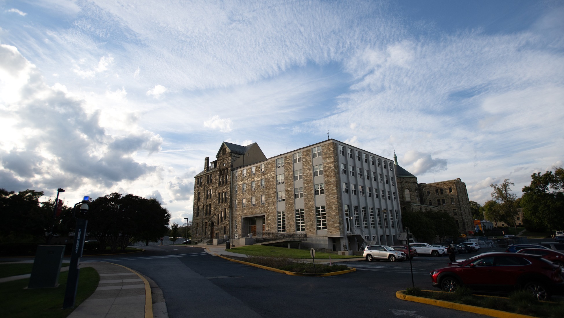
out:
{"label": "stone building with rounded, dark-roofed tower, behind the larger building", "polygon": [[402,211],[445,211],[455,219],[460,233],[474,231],[466,184],[460,179],[417,183],[417,177],[398,165],[394,153]]}

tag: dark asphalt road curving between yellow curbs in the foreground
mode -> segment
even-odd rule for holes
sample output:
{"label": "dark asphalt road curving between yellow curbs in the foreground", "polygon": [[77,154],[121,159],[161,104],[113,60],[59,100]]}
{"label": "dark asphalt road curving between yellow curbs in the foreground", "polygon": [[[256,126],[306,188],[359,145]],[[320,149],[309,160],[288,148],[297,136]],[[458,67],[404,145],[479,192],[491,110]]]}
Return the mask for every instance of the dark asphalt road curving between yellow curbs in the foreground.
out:
{"label": "dark asphalt road curving between yellow curbs in the foreground", "polygon": [[[289,276],[215,257],[202,248],[149,247],[142,253],[89,257],[133,268],[164,293],[169,317],[486,317],[395,298],[411,286],[409,262],[348,262],[357,271]],[[415,286],[432,289],[429,271],[447,257],[413,260]]]}

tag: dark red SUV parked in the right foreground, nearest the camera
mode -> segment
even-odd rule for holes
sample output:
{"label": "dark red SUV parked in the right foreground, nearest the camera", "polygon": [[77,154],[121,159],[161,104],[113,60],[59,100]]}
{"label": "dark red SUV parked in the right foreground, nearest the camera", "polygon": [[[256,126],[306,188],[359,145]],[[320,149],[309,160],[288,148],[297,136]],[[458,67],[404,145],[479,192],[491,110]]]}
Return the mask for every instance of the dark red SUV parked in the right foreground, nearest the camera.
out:
{"label": "dark red SUV parked in the right foreground, nearest the camera", "polygon": [[484,253],[430,274],[433,287],[445,292],[462,285],[490,292],[525,289],[539,300],[564,292],[561,267],[536,255]]}

